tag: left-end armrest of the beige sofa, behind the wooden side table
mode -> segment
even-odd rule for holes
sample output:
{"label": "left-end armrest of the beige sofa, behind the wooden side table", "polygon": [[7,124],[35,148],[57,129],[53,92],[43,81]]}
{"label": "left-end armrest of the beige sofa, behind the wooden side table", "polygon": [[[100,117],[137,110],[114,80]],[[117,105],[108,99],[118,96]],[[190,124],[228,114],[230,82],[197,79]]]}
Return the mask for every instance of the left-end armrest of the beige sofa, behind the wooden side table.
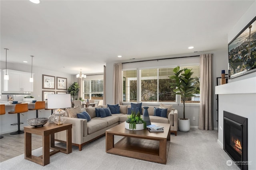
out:
{"label": "left-end armrest of the beige sofa, behind the wooden side table", "polygon": [[[83,136],[87,136],[87,120],[67,117],[65,123],[72,124],[72,143],[82,144]],[[55,133],[55,139],[66,141],[66,132]]]}

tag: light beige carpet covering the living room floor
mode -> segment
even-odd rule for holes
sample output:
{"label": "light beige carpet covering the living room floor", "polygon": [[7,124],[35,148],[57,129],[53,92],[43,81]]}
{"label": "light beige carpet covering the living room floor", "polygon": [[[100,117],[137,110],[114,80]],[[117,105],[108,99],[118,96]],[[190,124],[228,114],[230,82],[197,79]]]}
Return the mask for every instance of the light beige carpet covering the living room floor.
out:
{"label": "light beige carpet covering the living room floor", "polygon": [[[217,131],[190,129],[171,135],[167,164],[158,164],[105,152],[105,136],[85,145],[82,151],[72,147],[72,153],[57,153],[50,164],[41,166],[24,159],[24,154],[0,163],[1,170],[240,170],[217,143]],[[117,138],[118,139],[118,138]],[[120,138],[119,138],[120,139]],[[61,144],[62,145],[62,144]],[[40,156],[42,148],[33,150]]]}

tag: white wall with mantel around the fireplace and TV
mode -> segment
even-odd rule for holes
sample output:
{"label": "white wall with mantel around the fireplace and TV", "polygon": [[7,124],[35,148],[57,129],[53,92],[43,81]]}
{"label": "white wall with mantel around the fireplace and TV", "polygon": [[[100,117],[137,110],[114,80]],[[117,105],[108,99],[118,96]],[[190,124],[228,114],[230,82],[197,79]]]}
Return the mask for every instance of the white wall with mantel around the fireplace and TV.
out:
{"label": "white wall with mantel around the fireplace and TV", "polygon": [[[228,42],[230,42],[255,16],[256,16],[256,2],[247,10],[242,18],[234,25],[228,34]],[[252,161],[248,165],[249,170],[256,169],[256,72],[246,74],[237,78],[228,80],[228,84],[216,87],[217,93],[226,86],[227,91],[233,91],[234,94],[219,94],[219,131],[218,143],[223,147],[223,111],[228,111],[243,117],[248,118],[248,161]],[[248,82],[248,80],[250,82]],[[254,84],[253,86],[250,86]],[[237,89],[246,91],[251,90],[250,93],[237,93]]]}

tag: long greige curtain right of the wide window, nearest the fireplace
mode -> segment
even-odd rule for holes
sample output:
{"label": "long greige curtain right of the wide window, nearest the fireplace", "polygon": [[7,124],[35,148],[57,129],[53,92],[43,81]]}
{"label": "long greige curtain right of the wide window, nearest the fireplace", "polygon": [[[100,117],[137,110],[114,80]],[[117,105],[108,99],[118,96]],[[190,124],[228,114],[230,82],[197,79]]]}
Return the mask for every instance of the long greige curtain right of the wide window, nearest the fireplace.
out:
{"label": "long greige curtain right of the wide window, nearest the fireplace", "polygon": [[200,112],[198,128],[213,130],[212,54],[200,55]]}

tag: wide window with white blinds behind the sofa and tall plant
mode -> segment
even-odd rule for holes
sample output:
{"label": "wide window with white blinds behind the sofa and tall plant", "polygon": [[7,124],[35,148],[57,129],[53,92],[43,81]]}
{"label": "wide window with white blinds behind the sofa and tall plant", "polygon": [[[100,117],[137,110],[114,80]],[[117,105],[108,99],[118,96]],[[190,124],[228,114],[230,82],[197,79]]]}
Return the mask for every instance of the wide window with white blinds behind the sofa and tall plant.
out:
{"label": "wide window with white blinds behind the sofa and tall plant", "polygon": [[[141,69],[139,77],[137,70],[123,71],[123,102],[178,102],[171,88],[171,79],[174,75],[173,68],[147,68]],[[197,87],[195,97],[190,97],[186,102],[200,102],[200,66],[180,66],[181,69],[192,69],[193,77],[196,79],[194,86]],[[139,83],[137,83],[139,82]],[[137,88],[139,86],[139,88]],[[139,90],[138,90],[139,89]],[[178,98],[180,100],[180,98]]]}

